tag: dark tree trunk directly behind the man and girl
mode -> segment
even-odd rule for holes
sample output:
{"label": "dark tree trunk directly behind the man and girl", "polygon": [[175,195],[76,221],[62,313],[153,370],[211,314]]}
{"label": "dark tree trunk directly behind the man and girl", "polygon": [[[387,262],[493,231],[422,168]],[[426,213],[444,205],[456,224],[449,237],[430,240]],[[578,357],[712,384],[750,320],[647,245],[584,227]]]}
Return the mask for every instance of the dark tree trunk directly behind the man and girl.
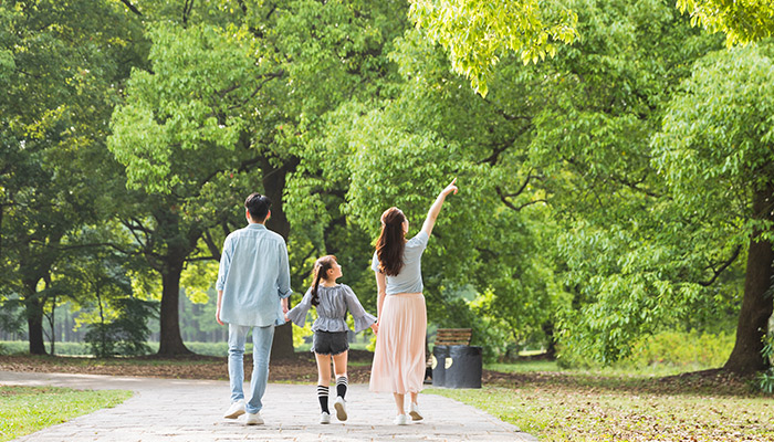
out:
{"label": "dark tree trunk directly behind the man and girl", "polygon": [[[287,241],[290,222],[282,208],[282,192],[285,189],[285,177],[295,168],[295,161],[290,161],[275,169],[268,159],[263,164],[263,191],[272,201],[271,218],[266,228],[282,235]],[[295,356],[293,348],[293,326],[287,323],[276,327],[274,341],[271,347],[271,359],[287,359]]]}

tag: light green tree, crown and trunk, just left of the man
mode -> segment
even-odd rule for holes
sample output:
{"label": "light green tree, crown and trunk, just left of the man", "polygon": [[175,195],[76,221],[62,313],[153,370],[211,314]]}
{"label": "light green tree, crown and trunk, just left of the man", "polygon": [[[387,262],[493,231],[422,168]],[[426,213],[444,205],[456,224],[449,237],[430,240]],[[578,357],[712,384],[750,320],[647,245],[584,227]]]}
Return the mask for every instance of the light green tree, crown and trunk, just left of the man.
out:
{"label": "light green tree, crown and trunk, just left of the man", "polygon": [[[257,140],[245,133],[244,115],[262,87],[254,78],[270,81],[274,74],[247,56],[244,41],[223,33],[207,24],[151,27],[150,71],[133,73],[108,138],[126,166],[128,186],[146,192],[124,222],[161,276],[161,355],[188,352],[178,320],[186,261],[213,252],[219,257],[219,245],[201,250],[200,241],[238,217],[245,172],[254,164],[264,162],[266,175],[283,175],[269,158],[255,157]],[[274,214],[282,220],[280,204]]]}

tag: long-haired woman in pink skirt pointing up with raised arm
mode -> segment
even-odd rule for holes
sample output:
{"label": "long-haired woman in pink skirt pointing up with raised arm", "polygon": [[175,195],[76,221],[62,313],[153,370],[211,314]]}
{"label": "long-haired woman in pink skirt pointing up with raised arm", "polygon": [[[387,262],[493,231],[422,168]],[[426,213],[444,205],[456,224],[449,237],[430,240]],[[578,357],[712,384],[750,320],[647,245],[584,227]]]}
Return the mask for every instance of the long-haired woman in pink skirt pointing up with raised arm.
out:
{"label": "long-haired woman in pink skirt pointing up with raised arm", "polygon": [[404,212],[389,208],[381,214],[381,234],[372,261],[378,288],[378,335],[369,390],[393,393],[398,411],[395,423],[398,425],[409,422],[405,412],[406,393],[411,397],[411,420],[422,419],[417,404],[425,379],[427,328],[421,256],[446,197],[458,191],[456,181],[457,178],[438,194],[422,230],[408,241],[408,220]]}

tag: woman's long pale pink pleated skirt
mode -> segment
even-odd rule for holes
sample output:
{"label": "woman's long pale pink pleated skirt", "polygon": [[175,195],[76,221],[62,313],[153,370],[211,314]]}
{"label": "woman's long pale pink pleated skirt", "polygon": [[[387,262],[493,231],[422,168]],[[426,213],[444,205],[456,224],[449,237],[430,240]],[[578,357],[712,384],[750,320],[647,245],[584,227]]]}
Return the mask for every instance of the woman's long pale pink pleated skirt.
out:
{"label": "woman's long pale pink pleated skirt", "polygon": [[421,293],[388,295],[381,306],[370,385],[374,392],[422,390],[427,309]]}

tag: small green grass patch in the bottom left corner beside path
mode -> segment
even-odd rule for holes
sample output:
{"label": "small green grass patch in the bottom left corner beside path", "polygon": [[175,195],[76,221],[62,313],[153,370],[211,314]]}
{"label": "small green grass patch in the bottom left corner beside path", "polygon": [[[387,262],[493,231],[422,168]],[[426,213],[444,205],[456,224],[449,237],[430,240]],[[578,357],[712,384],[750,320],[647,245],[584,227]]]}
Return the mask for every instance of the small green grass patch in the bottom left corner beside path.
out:
{"label": "small green grass patch in the bottom left corner beside path", "polygon": [[125,390],[0,386],[0,442],[115,407],[129,397],[132,392]]}

